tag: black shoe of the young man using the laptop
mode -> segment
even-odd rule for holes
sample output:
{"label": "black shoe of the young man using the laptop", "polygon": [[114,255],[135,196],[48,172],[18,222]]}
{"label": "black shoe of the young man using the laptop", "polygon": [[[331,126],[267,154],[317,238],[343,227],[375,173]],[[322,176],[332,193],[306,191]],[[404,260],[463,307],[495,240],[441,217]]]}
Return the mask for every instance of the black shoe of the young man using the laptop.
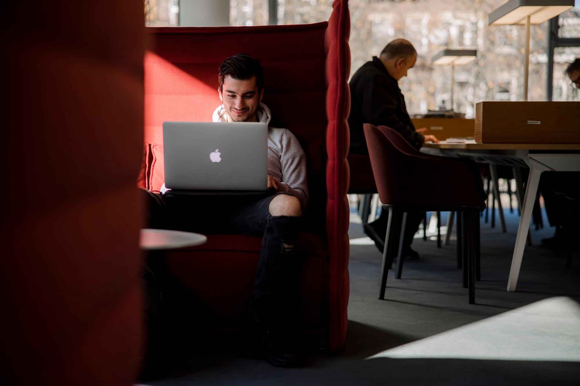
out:
{"label": "black shoe of the young man using the laptop", "polygon": [[264,359],[276,367],[299,367],[304,365],[304,357],[291,349],[278,347],[267,334],[249,334],[241,344],[240,356],[249,359]]}

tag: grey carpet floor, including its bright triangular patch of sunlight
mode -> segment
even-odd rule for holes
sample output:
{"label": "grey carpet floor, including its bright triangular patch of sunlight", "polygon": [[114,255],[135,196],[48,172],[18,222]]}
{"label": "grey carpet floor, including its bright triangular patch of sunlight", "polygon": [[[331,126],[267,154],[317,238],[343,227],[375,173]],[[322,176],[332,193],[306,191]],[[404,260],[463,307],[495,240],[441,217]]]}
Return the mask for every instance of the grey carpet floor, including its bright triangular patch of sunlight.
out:
{"label": "grey carpet floor, including its bright triangular patch of sunlight", "polygon": [[567,269],[563,253],[554,256],[540,243],[553,228],[532,230],[517,292],[507,292],[519,217],[509,210],[505,216],[505,234],[481,221],[482,281],[475,305],[467,303],[461,286],[453,236],[441,249],[432,239],[415,239],[420,258],[405,260],[401,279],[391,270],[386,300],[378,300],[382,256],[353,213],[349,328],[342,351],[313,352],[307,366],[279,369],[216,344],[177,360],[164,379],[144,383],[580,385],[580,254]]}

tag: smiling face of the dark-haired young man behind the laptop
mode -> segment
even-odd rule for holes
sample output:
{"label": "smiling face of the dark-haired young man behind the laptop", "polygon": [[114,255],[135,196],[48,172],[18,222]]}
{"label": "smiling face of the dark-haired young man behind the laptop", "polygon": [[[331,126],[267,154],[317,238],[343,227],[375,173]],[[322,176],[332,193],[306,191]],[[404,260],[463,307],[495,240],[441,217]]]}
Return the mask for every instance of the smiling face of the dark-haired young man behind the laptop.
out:
{"label": "smiling face of the dark-haired young man behind the laptop", "polygon": [[256,110],[262,100],[263,90],[258,91],[256,77],[242,81],[226,75],[218,90],[223,107],[234,122],[254,121]]}

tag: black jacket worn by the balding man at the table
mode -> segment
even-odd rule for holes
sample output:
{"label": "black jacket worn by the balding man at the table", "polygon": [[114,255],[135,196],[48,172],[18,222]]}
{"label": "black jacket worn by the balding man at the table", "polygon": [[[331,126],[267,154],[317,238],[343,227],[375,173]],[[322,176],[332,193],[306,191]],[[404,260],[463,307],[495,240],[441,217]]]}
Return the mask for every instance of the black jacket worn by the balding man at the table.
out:
{"label": "black jacket worn by the balding man at the table", "polygon": [[416,149],[421,147],[425,137],[415,131],[398,83],[378,57],[373,56],[372,61],[362,65],[350,79],[349,86],[351,153],[368,155],[363,123],[389,126]]}

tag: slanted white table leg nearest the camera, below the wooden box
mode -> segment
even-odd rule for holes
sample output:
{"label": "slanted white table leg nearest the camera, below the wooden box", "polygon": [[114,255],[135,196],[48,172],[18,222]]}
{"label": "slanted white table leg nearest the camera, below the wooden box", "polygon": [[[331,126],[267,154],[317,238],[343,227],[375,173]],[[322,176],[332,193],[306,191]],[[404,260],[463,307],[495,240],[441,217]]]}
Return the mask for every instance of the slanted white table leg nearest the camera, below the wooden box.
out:
{"label": "slanted white table leg nearest the camera, below the wooden box", "polygon": [[516,290],[517,278],[520,275],[521,259],[524,256],[525,239],[530,230],[530,219],[532,217],[532,211],[534,210],[534,201],[536,198],[536,192],[538,191],[540,175],[544,170],[546,170],[546,166],[543,166],[541,163],[535,162],[531,159],[528,162],[530,163],[530,176],[528,177],[524,203],[521,208],[520,225],[517,228],[516,246],[514,247],[512,257],[512,268],[510,268],[509,279],[507,280],[508,291]]}

